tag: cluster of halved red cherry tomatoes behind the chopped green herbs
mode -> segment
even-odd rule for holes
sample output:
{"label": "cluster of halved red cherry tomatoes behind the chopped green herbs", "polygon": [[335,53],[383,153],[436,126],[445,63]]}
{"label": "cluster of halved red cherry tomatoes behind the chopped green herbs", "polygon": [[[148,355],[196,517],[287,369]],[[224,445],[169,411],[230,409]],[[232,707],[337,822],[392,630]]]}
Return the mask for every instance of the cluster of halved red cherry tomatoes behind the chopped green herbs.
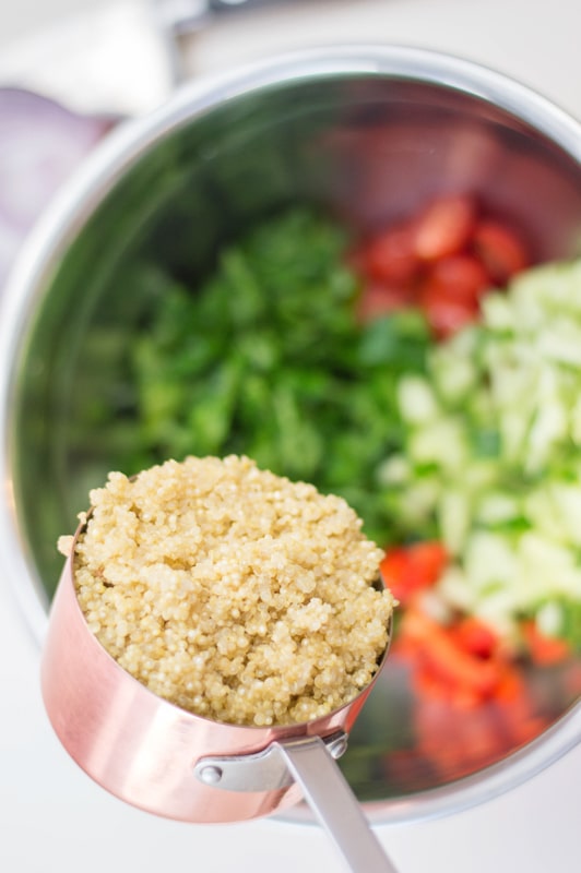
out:
{"label": "cluster of halved red cherry tomatoes behind the chopped green herbs", "polygon": [[440,196],[352,252],[348,261],[365,283],[359,316],[415,307],[437,339],[476,321],[482,295],[529,263],[519,235],[477,212],[469,194]]}

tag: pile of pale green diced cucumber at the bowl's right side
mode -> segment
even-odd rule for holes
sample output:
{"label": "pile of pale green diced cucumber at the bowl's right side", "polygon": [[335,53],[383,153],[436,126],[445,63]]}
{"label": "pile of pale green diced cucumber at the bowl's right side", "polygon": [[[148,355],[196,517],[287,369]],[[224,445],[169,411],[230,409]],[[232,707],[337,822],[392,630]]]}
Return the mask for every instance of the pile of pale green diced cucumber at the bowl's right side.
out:
{"label": "pile of pale green diced cucumber at the bowl's right side", "polygon": [[436,531],[451,555],[436,600],[509,637],[524,615],[570,637],[567,615],[581,614],[581,261],[522,274],[483,311],[434,349],[425,378],[401,383],[405,459],[383,473],[404,527]]}

